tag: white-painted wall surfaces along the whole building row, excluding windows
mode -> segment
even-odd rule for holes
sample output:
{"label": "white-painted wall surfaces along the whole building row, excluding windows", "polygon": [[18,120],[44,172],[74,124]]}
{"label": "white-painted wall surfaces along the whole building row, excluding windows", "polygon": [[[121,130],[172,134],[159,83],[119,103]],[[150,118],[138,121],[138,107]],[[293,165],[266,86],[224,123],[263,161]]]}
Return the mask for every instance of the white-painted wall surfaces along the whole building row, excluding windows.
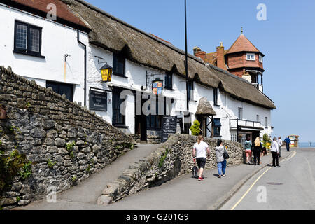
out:
{"label": "white-painted wall surfaces along the whole building row, excluding windows", "polygon": [[[45,59],[13,53],[15,20],[43,28],[41,55],[45,56]],[[0,64],[11,66],[15,73],[25,76],[29,80],[35,80],[38,85],[43,87],[46,85],[46,80],[73,84],[73,100],[82,102],[82,105],[84,105],[84,49],[77,42],[76,30],[2,5],[0,5],[0,21],[5,21],[0,24]],[[104,64],[98,64],[98,59],[95,56],[103,58],[100,62],[107,62],[109,65],[113,66],[113,53],[90,45],[87,34],[82,32],[80,32],[80,41],[87,45],[86,103],[88,107],[90,87],[111,90],[108,83],[101,83],[102,76],[99,69]],[[66,61],[66,76],[64,76],[65,54],[71,55]],[[118,85],[127,89],[130,88],[132,90],[141,91],[141,87],[146,86],[146,72],[149,74],[148,83],[152,83],[155,78],[165,79],[164,76],[151,76],[152,74],[164,74],[164,72],[135,64],[126,59],[125,76],[127,78],[113,75],[110,85]],[[175,99],[171,114],[181,114],[181,116],[183,116],[181,111],[186,111],[186,79],[173,76],[173,89],[174,90],[163,90],[163,95]],[[151,92],[151,85],[148,85],[146,92]],[[189,102],[190,113],[193,113],[192,123],[195,120],[195,112],[197,111],[197,106],[202,97],[206,97],[211,106],[213,106],[217,113],[215,118],[221,118],[222,139],[230,139],[230,119],[237,118],[238,107],[243,108],[244,120],[255,121],[256,116],[259,115],[264,127],[265,117],[267,117],[269,124],[263,133],[271,134],[271,113],[269,109],[254,106],[246,102],[240,102],[224,92],[218,94],[218,104],[221,106],[214,106],[213,89],[197,83],[194,83],[194,99]],[[135,99],[133,96],[127,97],[126,126],[129,127],[128,132],[130,133],[134,133],[135,126],[134,102]],[[111,92],[108,92],[107,111],[95,112],[97,115],[102,116],[107,122],[112,123]]]}

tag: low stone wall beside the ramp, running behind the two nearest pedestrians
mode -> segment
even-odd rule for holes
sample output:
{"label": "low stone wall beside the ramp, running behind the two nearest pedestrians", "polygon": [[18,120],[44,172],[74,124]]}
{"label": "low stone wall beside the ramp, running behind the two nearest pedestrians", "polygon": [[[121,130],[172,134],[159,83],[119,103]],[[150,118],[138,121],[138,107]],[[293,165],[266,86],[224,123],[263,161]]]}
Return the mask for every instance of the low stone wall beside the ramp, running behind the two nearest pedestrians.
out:
{"label": "low stone wall beside the ramp, running behind the two nearest pedestrians", "polygon": [[[134,163],[123,174],[104,189],[98,204],[109,204],[139,190],[159,186],[176,176],[192,172],[193,145],[197,137],[183,134],[172,135],[165,144],[144,160]],[[209,144],[210,159],[207,159],[206,169],[216,167],[216,139],[204,139]],[[223,141],[228,148],[230,159],[228,166],[244,162],[244,148],[235,141]]]}

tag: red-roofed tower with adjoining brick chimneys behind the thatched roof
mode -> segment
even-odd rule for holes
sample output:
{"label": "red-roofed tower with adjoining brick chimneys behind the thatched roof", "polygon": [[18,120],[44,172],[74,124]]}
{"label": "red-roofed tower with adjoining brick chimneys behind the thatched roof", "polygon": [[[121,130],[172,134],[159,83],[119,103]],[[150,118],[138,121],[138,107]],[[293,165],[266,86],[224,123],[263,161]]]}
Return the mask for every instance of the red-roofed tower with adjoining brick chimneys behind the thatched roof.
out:
{"label": "red-roofed tower with adjoining brick chimneys behind the thatched roof", "polygon": [[244,35],[241,27],[241,35],[228,50],[224,50],[223,43],[216,48],[216,52],[206,53],[200,48],[194,48],[194,55],[204,62],[218,66],[235,76],[248,80],[259,90],[263,90],[263,57],[265,55],[251,43]]}

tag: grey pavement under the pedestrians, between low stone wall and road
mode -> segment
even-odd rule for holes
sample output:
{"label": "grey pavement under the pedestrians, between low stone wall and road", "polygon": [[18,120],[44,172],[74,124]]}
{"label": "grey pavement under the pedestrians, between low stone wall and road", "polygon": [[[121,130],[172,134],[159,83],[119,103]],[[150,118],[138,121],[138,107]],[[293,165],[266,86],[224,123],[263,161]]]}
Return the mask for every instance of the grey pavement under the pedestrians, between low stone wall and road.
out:
{"label": "grey pavement under the pedestrians, between low stone wall and road", "polygon": [[[283,157],[289,155],[283,152]],[[272,156],[262,158],[262,165],[272,162]],[[227,177],[219,179],[218,170],[211,169],[204,172],[206,179],[199,182],[192,179],[191,174],[180,176],[162,186],[139,192],[130,197],[109,204],[104,209],[134,209],[134,210],[207,210],[216,209],[217,202],[223,195],[239,182],[246,179],[260,166],[237,165],[228,167]]]}

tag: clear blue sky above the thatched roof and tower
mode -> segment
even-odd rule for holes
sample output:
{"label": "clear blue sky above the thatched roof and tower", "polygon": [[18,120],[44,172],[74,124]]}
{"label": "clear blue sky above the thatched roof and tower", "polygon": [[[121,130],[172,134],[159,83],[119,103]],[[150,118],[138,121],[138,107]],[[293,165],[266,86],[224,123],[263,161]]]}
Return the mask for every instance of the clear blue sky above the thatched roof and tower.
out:
{"label": "clear blue sky above the thatched roof and tower", "polygon": [[[130,25],[185,50],[184,0],[87,0]],[[256,7],[267,6],[267,21]],[[300,135],[315,141],[315,1],[187,0],[188,51],[199,46],[230,48],[244,27],[245,36],[264,57],[264,90],[276,104],[273,136]]]}

